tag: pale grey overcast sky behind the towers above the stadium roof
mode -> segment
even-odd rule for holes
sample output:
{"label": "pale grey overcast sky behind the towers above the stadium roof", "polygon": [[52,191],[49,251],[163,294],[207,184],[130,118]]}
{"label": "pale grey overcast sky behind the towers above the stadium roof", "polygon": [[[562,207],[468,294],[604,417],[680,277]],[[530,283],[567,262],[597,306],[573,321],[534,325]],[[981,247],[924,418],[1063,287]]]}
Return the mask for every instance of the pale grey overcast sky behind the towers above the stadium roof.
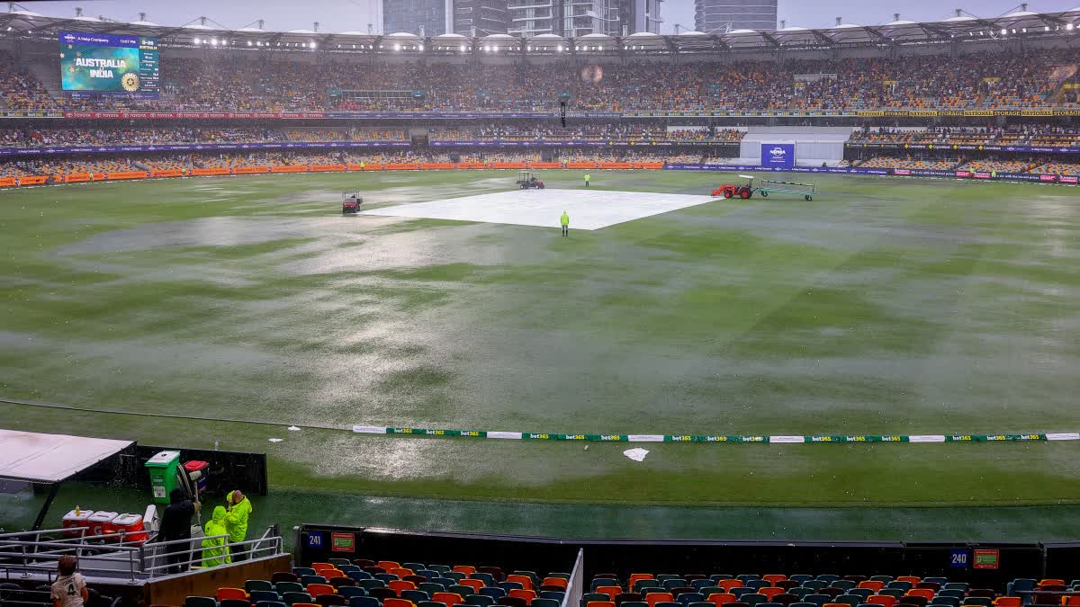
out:
{"label": "pale grey overcast sky behind the towers above the stadium roof", "polygon": [[[239,28],[256,19],[266,19],[266,29],[309,29],[312,22],[320,22],[320,31],[367,30],[375,23],[374,5],[380,0],[81,0],[81,1],[23,1],[18,4],[51,16],[75,14],[82,6],[87,15],[104,15],[119,21],[135,21],[138,13],[162,25],[180,25],[199,16],[228,27]],[[6,4],[6,2],[4,2]],[[912,21],[941,21],[953,16],[955,9],[964,9],[981,17],[998,16],[1020,4],[1013,0],[780,0],[780,18],[787,25],[827,27],[836,17],[846,23],[879,25],[892,21],[893,13]],[[1080,0],[1041,0],[1031,2],[1030,11],[1065,11],[1080,4]],[[5,8],[4,8],[5,10]],[[675,24],[685,29],[693,27],[693,0],[665,0],[661,16],[664,33],[674,30]],[[376,30],[378,25],[376,24]]]}

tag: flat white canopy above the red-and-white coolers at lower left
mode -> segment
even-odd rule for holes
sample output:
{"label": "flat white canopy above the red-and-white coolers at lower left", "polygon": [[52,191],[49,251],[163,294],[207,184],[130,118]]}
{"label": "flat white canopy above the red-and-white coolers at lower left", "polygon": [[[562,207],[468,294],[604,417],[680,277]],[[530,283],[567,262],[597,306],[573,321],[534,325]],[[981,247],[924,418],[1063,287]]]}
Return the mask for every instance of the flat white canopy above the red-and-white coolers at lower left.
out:
{"label": "flat white canopy above the red-and-white coolers at lower left", "polygon": [[131,444],[132,441],[0,429],[0,478],[58,483]]}

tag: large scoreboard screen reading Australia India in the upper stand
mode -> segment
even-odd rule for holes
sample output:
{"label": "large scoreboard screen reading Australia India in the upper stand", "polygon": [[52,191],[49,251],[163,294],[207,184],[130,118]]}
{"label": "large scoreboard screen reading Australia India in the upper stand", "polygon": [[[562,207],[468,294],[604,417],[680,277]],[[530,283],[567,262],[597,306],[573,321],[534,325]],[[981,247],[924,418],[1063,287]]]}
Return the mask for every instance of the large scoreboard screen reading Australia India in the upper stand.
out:
{"label": "large scoreboard screen reading Australia India in the upper stand", "polygon": [[73,96],[158,97],[157,38],[62,31],[59,40],[60,80]]}

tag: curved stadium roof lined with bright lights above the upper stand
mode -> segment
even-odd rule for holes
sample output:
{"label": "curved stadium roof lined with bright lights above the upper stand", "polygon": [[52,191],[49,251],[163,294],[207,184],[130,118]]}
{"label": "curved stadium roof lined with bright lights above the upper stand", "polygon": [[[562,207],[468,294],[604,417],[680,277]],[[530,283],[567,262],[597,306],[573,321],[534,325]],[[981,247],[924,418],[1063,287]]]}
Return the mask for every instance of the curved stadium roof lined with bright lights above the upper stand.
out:
{"label": "curved stadium roof lined with bright lights above the upper stand", "polygon": [[[483,38],[421,38],[415,33],[390,35],[343,31],[340,33],[294,29],[265,31],[261,28],[229,29],[213,19],[200,18],[180,26],[162,26],[148,21],[117,22],[105,17],[49,17],[31,11],[0,13],[0,37],[50,40],[62,30],[95,33],[156,36],[164,48],[212,45],[218,49],[274,48],[285,51],[315,50],[360,53],[723,53],[729,51],[811,50],[845,46],[895,46],[985,40],[1047,39],[1072,36],[1080,27],[1080,6],[1068,11],[1034,13],[1021,10],[1000,17],[961,14],[940,22],[894,21],[866,26],[838,24],[828,28],[785,27],[778,30],[737,29],[728,32],[684,31],[675,36],[634,33],[612,37],[590,33],[577,39],[541,35],[523,39],[508,35]],[[395,43],[387,44],[384,41]],[[435,43],[432,44],[431,42]],[[443,42],[443,44],[440,44]],[[492,46],[498,42],[498,46]],[[563,44],[562,42],[566,42]]]}

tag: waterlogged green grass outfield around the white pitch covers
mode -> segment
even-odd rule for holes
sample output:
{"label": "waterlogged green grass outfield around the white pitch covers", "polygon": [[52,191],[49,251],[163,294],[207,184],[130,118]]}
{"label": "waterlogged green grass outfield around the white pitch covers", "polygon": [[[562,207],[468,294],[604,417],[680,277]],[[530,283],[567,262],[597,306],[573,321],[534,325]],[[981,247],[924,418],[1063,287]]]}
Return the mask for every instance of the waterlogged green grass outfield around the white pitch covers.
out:
{"label": "waterlogged green grass outfield around the white pitch covers", "polygon": [[[545,229],[339,213],[346,190],[390,205],[515,177],[0,191],[0,396],[117,412],[0,405],[0,427],[218,441],[268,453],[273,487],[305,494],[1080,503],[1080,442],[647,444],[636,462],[626,443],[350,432],[1080,431],[1075,188],[812,176],[812,202],[716,200],[570,238],[557,217]],[[593,172],[592,187],[707,194],[731,178]]]}

